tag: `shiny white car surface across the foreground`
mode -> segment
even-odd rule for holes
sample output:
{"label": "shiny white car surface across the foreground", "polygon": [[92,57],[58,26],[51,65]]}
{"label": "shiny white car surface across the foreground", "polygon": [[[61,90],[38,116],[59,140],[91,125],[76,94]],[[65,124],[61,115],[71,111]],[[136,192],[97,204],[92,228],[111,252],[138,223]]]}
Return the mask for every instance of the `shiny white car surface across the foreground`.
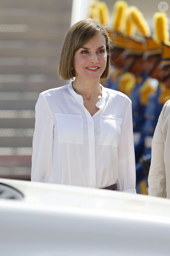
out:
{"label": "shiny white car surface across the foreground", "polygon": [[22,200],[0,200],[2,255],[169,255],[170,200],[40,182],[0,182],[24,195]]}

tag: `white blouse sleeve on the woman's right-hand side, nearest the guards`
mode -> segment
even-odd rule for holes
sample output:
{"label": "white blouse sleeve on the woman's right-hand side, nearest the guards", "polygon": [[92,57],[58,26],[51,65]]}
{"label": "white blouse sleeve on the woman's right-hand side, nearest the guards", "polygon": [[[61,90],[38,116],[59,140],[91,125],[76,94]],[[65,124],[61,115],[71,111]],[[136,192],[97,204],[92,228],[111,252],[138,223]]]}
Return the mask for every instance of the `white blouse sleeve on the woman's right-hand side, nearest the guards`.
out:
{"label": "white blouse sleeve on the woman's right-hand side, nearest the guards", "polygon": [[118,146],[118,190],[136,193],[135,151],[132,128],[132,102],[129,103]]}

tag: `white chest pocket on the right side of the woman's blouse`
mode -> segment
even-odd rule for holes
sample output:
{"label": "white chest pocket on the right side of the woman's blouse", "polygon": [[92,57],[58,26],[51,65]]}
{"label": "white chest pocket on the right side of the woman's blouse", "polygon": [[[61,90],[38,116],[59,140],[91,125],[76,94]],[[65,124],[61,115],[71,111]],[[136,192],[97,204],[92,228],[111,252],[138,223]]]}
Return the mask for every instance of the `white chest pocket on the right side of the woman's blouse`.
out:
{"label": "white chest pocket on the right side of the woman's blouse", "polygon": [[118,147],[121,135],[122,119],[113,116],[100,117],[99,145]]}

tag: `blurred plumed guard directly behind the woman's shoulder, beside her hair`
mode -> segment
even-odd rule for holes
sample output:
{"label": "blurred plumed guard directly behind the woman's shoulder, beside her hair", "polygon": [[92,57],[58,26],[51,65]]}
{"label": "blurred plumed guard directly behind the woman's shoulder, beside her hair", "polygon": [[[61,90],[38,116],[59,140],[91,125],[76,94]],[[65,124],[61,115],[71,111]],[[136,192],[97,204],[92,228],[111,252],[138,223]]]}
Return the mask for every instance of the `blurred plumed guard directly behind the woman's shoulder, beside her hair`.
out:
{"label": "blurred plumed guard directly behind the woman's shoulder, beside her hair", "polygon": [[130,95],[135,85],[135,76],[125,70],[125,58],[123,51],[126,48],[126,36],[134,34],[135,26],[128,19],[127,3],[117,1],[113,8],[113,25],[111,39],[113,41],[113,50],[110,51],[111,66],[114,67],[107,86],[127,96]]}

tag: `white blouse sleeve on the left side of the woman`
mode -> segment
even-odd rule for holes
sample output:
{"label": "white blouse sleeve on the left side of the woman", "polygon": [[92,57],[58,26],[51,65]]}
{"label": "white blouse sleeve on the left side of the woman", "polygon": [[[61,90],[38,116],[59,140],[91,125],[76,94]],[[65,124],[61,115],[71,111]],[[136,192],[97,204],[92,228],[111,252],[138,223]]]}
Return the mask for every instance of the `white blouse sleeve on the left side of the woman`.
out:
{"label": "white blouse sleeve on the left side of the woman", "polygon": [[53,116],[43,94],[35,105],[31,181],[45,182],[52,170]]}

